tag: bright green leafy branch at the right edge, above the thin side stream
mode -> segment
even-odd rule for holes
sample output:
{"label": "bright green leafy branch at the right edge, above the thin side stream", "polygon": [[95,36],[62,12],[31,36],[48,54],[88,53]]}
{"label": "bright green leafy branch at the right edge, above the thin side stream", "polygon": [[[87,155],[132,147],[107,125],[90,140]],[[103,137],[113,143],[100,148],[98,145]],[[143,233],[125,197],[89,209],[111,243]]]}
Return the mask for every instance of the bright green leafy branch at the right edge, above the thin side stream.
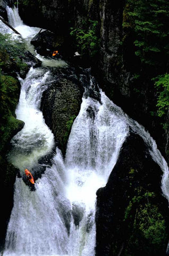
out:
{"label": "bright green leafy branch at the right edge, above the thin side stream", "polygon": [[162,117],[167,114],[169,108],[169,74],[158,76],[154,80],[158,92],[157,113]]}

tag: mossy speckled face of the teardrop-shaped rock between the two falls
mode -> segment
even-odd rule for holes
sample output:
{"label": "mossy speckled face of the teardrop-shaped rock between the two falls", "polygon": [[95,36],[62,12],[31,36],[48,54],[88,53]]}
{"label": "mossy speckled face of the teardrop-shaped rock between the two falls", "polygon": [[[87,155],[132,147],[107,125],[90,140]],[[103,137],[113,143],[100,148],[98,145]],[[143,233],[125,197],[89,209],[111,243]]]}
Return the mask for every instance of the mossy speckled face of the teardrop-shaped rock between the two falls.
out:
{"label": "mossy speckled face of the teardrop-shaped rock between the two falls", "polygon": [[79,113],[80,103],[81,92],[69,79],[60,79],[44,93],[44,118],[56,141],[60,142],[63,154],[73,120]]}

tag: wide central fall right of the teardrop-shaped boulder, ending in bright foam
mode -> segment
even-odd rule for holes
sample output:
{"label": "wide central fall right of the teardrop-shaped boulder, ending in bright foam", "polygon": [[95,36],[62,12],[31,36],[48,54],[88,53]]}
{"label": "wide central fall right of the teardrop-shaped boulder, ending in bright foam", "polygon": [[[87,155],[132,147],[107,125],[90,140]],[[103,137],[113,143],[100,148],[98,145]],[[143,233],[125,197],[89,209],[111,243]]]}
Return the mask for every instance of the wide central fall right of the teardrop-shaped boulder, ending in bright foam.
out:
{"label": "wide central fall right of the teardrop-shaped boulder, ending in bright foam", "polygon": [[[88,97],[82,99],[66,151],[68,198],[82,201],[93,209],[96,190],[105,186],[129,132],[126,120],[112,111],[102,94],[102,104]],[[95,181],[95,182],[94,182]]]}

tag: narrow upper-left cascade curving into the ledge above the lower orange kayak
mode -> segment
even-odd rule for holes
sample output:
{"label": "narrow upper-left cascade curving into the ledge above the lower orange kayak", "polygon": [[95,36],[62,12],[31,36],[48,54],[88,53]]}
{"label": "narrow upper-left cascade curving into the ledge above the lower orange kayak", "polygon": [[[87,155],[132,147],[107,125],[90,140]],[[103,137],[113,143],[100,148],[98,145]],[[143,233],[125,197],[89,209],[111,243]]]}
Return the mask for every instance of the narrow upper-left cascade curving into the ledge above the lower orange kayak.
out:
{"label": "narrow upper-left cascade curving into the ledge above the lower orange kayak", "polygon": [[31,68],[27,77],[20,79],[22,87],[16,117],[25,124],[11,141],[13,149],[9,159],[21,171],[35,165],[54,146],[54,136],[39,110],[41,95],[46,88],[44,83],[48,77],[49,71]]}

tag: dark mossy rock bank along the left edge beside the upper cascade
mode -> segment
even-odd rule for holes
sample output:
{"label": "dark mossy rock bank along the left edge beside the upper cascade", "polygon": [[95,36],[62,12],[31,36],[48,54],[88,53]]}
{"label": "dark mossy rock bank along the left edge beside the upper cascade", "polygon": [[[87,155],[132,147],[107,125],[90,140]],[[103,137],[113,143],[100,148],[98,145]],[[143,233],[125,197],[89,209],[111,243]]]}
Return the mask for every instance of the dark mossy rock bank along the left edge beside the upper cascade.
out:
{"label": "dark mossy rock bank along the left edge beside the upper cascade", "polygon": [[0,34],[0,151],[6,148],[13,135],[23,127],[23,122],[15,118],[20,83],[12,75],[28,72],[28,65],[20,58],[24,51],[23,43],[13,41],[9,35]]}

